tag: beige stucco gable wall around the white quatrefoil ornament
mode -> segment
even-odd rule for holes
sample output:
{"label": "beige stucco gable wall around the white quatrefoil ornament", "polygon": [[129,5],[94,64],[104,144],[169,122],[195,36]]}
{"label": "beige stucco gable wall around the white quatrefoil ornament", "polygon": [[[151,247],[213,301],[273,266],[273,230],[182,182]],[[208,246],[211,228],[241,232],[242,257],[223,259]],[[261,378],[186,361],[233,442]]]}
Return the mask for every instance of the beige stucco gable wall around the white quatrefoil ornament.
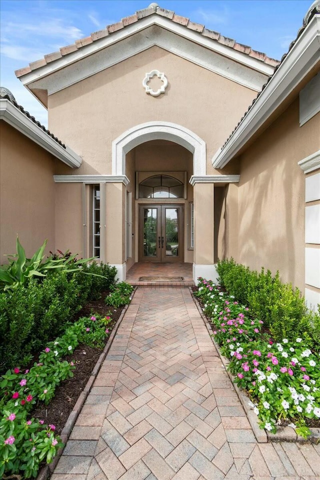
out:
{"label": "beige stucco gable wall around the white quatrefoil ornament", "polygon": [[[168,79],[164,94],[145,93],[145,72]],[[189,128],[207,145],[210,159],[256,92],[153,46],[48,97],[50,130],[83,157],[77,173],[111,173],[111,142],[127,129],[152,120]],[[72,120],[72,121],[71,121]],[[65,173],[61,165],[57,173]]]}

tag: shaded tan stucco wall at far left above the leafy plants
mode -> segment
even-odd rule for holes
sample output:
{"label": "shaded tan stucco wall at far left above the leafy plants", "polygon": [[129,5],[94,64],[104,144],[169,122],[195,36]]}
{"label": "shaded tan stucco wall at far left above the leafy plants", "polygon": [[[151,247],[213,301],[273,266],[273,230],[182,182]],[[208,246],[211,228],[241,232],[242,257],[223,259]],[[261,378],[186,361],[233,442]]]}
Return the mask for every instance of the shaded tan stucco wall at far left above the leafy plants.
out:
{"label": "shaded tan stucco wall at far left above the leafy plants", "polygon": [[52,155],[6,122],[0,122],[0,263],[16,251],[18,234],[27,256],[47,238],[54,250]]}

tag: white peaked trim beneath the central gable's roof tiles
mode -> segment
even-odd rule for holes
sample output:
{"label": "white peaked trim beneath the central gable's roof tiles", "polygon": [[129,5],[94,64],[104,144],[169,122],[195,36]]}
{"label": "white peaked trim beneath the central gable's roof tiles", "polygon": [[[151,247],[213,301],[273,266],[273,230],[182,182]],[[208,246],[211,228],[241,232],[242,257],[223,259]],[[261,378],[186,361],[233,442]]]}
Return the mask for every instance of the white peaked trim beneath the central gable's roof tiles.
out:
{"label": "white peaked trim beneath the central gable's roof tiles", "polygon": [[[132,35],[135,36],[134,39]],[[266,77],[274,71],[273,66],[214,41],[205,35],[199,35],[198,32],[185,28],[168,18],[149,15],[139,19],[138,22],[126,25],[125,28],[114,31],[112,35],[95,40],[55,61],[46,63],[42,67],[20,76],[19,79],[29,90],[44,88],[50,94],[62,88],[62,85],[57,86],[56,75],[53,75],[53,80],[49,78],[52,73],[56,73],[58,70],[64,69],[66,74],[62,75],[64,81],[73,84],[153,45],[171,51],[175,55],[186,58],[256,91],[261,89]],[[105,52],[101,54],[101,50],[106,47],[108,48],[107,55]],[[93,62],[91,60],[84,62],[83,60],[89,56],[94,57]],[[76,76],[76,78],[75,76],[72,78],[73,74],[69,75],[69,66],[79,60],[81,60],[81,68],[76,67],[77,73],[72,69]],[[90,68],[87,68],[86,65],[89,63]],[[67,76],[69,76],[69,80]]]}

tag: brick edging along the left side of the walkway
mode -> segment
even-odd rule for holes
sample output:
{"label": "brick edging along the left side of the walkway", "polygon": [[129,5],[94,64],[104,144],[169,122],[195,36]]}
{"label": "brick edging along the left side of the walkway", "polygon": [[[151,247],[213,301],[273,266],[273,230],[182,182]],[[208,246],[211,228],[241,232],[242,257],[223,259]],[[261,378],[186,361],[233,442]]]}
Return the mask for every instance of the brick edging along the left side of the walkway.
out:
{"label": "brick edging along the left side of the walkway", "polygon": [[[136,291],[136,287],[133,289],[130,297],[131,297],[131,301],[132,301],[132,298],[133,298],[133,295]],[[124,305],[123,307],[123,310],[121,312],[121,315],[119,316],[116,324],[114,325],[114,327],[112,328],[112,331],[111,331],[111,334],[105,344],[105,347],[102,351],[102,353],[100,354],[93,370],[91,371],[91,375],[89,376],[89,379],[88,381],[86,382],[85,384],[85,387],[83,388],[83,390],[81,391],[78,399],[76,400],[75,404],[74,404],[74,407],[72,409],[72,411],[70,412],[66,422],[65,422],[65,425],[60,433],[60,438],[61,440],[63,441],[64,443],[64,446],[70,436],[70,433],[72,431],[72,428],[76,422],[76,419],[81,411],[81,408],[83,406],[83,403],[85,402],[90,390],[91,390],[91,387],[93,385],[93,382],[100,370],[100,367],[101,367],[101,364],[102,362],[104,361],[110,347],[111,347],[111,344],[112,344],[112,341],[113,341],[113,338],[120,326],[120,323],[122,322],[122,319],[124,317],[124,314],[126,312],[126,310],[128,309],[129,307],[129,303],[127,303],[126,305]],[[56,464],[57,462],[59,461],[60,459],[60,456],[62,455],[62,452],[63,452],[63,449],[64,449],[64,446],[59,448],[59,450],[57,451],[56,455],[54,456],[53,460],[51,463],[47,464],[47,465],[44,465],[41,470],[39,471],[39,473],[37,474],[35,480],[47,480],[47,478],[49,478],[50,475],[52,475],[53,473],[53,470],[54,468],[56,467]]]}

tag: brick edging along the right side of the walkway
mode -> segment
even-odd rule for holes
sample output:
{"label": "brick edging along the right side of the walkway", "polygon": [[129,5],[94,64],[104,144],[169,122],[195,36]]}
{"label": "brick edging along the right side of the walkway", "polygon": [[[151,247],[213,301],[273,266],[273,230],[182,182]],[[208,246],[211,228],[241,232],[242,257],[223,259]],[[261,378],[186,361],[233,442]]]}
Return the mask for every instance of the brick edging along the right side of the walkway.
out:
{"label": "brick edging along the right side of the walkway", "polygon": [[[190,293],[192,295],[193,301],[201,315],[201,318],[208,330],[208,332],[213,331],[211,323],[208,321],[206,316],[203,314],[202,308],[197,300],[197,298],[193,295],[192,288],[189,287]],[[210,334],[211,335],[211,334]],[[309,435],[307,438],[303,438],[300,435],[297,435],[296,432],[294,431],[294,428],[291,426],[278,426],[276,433],[271,433],[265,429],[259,428],[259,425],[256,421],[256,414],[253,412],[253,409],[249,407],[248,405],[248,397],[245,395],[243,392],[242,388],[239,388],[236,383],[234,383],[234,375],[232,375],[226,368],[226,366],[229,364],[229,361],[227,358],[225,358],[221,352],[219,345],[216,343],[214,340],[213,336],[211,336],[212,343],[214,344],[216,351],[218,352],[218,355],[220,357],[220,360],[232,382],[232,386],[234,390],[236,391],[239,400],[244,408],[244,411],[246,413],[247,419],[251,425],[251,428],[253,430],[254,436],[256,438],[256,441],[258,443],[266,443],[268,441],[290,441],[290,442],[300,442],[300,443],[306,443],[306,442],[311,442],[311,443],[320,443],[320,428],[310,428],[311,435]]]}

